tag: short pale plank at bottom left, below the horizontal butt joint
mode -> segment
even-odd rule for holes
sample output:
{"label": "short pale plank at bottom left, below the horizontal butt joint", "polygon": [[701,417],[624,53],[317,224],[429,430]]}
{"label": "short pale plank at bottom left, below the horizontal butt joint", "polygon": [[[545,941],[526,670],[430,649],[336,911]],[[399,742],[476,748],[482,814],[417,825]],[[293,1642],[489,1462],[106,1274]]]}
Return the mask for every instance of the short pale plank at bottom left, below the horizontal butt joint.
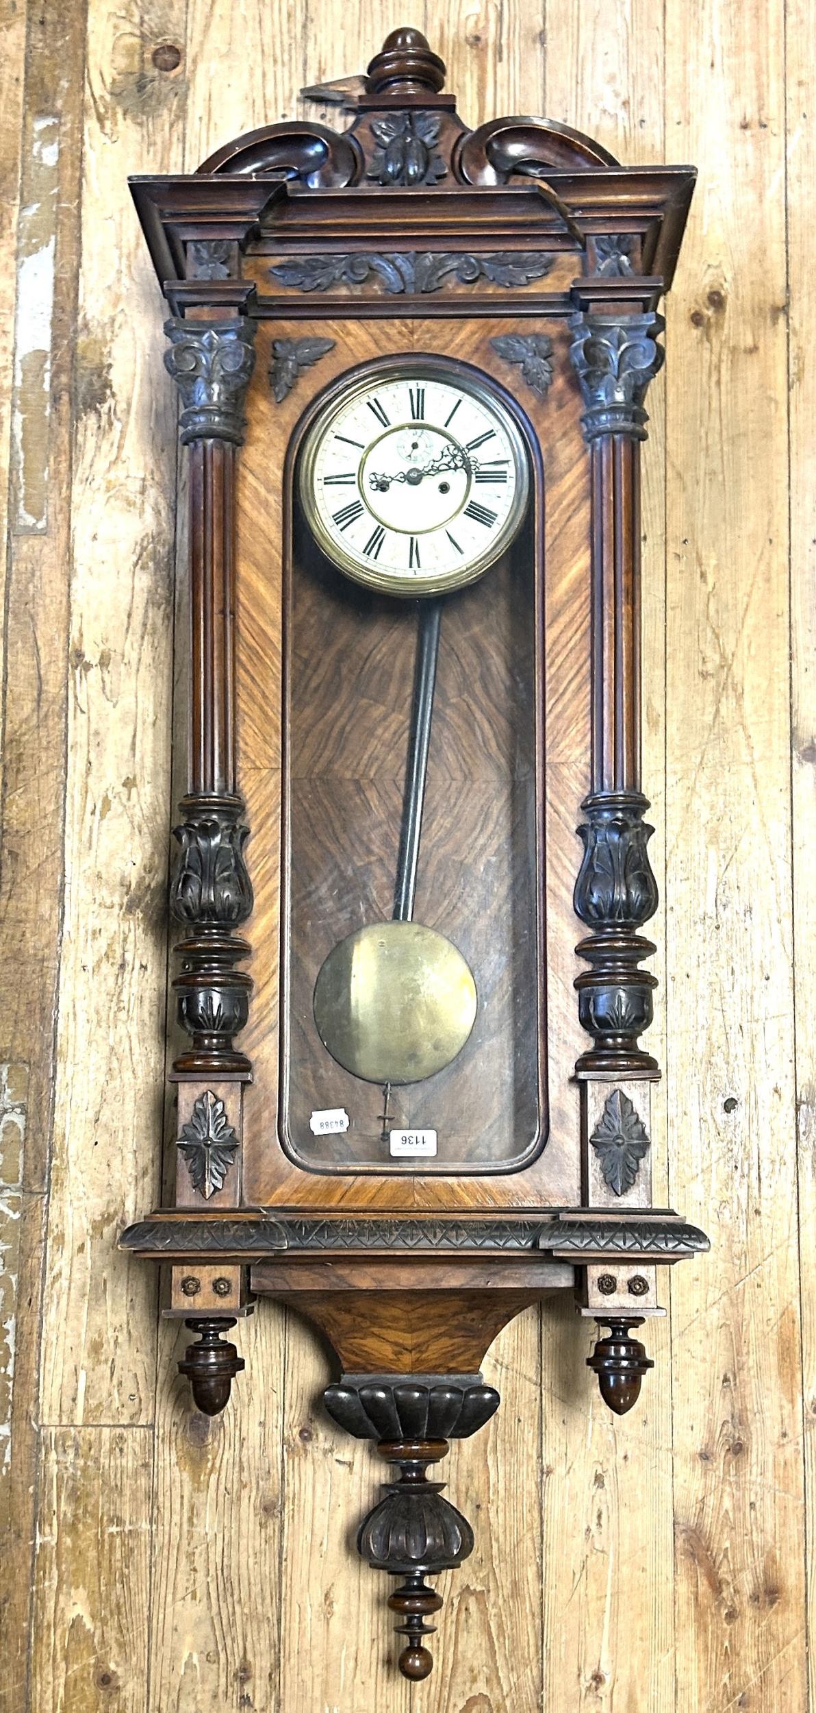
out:
{"label": "short pale plank at bottom left, below the horizontal butt joint", "polygon": [[31,1708],[144,1713],[151,1473],[149,1429],[43,1434]]}

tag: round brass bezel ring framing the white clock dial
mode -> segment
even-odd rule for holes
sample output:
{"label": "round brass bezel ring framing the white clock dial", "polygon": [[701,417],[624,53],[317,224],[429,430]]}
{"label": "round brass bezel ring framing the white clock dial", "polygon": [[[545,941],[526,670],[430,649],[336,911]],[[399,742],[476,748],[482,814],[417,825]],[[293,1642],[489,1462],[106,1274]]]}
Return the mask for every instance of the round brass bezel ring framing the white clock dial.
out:
{"label": "round brass bezel ring framing the white clock dial", "polygon": [[[340,396],[334,396],[332,401],[320,409],[301,447],[298,463],[298,492],[306,522],[311,529],[311,534],[315,536],[315,541],[318,543],[325,557],[332,562],[332,565],[337,565],[337,569],[342,570],[346,577],[351,577],[352,582],[361,582],[368,589],[378,589],[380,594],[399,594],[411,600],[423,594],[448,594],[452,589],[464,589],[467,588],[467,584],[477,582],[477,579],[482,577],[484,572],[489,570],[498,558],[501,558],[501,555],[506,552],[510,543],[518,534],[523,514],[527,510],[527,500],[530,493],[530,469],[527,461],[527,447],[523,444],[518,423],[515,421],[511,411],[506,408],[505,401],[500,397],[494,382],[491,380],[489,375],[481,377],[479,373],[474,373],[470,367],[467,370],[462,368],[460,372],[457,372],[455,382],[462,389],[462,392],[469,392],[470,397],[479,399],[494,416],[498,416],[508,437],[513,454],[515,478],[517,478],[513,502],[491,546],[486,548],[484,553],[479,553],[477,558],[469,560],[469,564],[460,570],[450,570],[440,577],[388,576],[383,570],[376,570],[376,567],[370,569],[368,565],[361,565],[352,553],[344,552],[340,543],[328,534],[328,529],[325,528],[323,519],[320,517],[320,512],[316,509],[315,481],[313,481],[315,459],[318,454],[318,447],[325,437],[327,423],[340,411],[346,411],[347,406],[359,394],[370,391],[373,373],[376,373],[378,382],[411,375],[412,379],[436,380],[452,385],[453,379],[450,360],[445,358],[436,360],[433,356],[428,356],[417,363],[414,353],[409,355],[407,361],[395,358],[392,363],[378,365],[376,370],[370,372],[358,370],[356,379],[349,385],[349,389],[344,391]],[[342,375],[339,379],[342,382]]]}

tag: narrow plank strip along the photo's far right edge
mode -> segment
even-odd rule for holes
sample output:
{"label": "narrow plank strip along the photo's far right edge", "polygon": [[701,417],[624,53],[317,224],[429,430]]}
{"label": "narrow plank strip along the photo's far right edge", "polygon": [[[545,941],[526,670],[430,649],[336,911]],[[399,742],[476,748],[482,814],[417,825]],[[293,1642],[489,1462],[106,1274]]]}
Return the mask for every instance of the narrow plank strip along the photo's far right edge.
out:
{"label": "narrow plank strip along the photo's far right edge", "polygon": [[[794,1018],[795,1098],[799,1117],[799,1269],[802,1309],[802,1429],[807,1509],[807,1631],[816,1626],[816,1019],[811,990],[816,970],[816,382],[809,361],[816,288],[813,274],[813,199],[816,134],[813,127],[813,0],[789,0],[787,41],[787,291],[790,423],[790,690],[792,690],[792,858],[794,858]],[[816,1656],[809,1650],[809,1692],[816,1706]]]}

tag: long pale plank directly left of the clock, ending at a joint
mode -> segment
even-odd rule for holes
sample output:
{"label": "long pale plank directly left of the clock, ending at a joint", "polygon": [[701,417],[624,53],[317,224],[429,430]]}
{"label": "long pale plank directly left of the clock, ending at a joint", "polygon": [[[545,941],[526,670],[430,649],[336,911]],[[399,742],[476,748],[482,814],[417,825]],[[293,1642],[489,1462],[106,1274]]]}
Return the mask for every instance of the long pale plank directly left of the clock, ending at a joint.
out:
{"label": "long pale plank directly left of the clock, ending at a joint", "polygon": [[[166,7],[161,41],[173,15]],[[43,1420],[62,1424],[142,1422],[154,1406],[154,1278],[115,1240],[156,1197],[161,1134],[174,399],[161,384],[156,284],[127,190],[128,171],[178,164],[183,79],[154,65],[157,36],[135,5],[94,0],[89,10],[68,884],[43,1341]]]}

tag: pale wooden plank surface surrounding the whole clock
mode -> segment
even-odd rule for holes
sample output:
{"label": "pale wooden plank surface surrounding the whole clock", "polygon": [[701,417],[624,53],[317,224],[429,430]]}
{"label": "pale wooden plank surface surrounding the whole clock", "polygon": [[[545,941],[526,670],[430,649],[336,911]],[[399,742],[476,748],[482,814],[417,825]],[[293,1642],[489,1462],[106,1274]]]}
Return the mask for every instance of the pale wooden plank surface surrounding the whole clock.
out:
{"label": "pale wooden plank surface surrounding the whole clock", "polygon": [[[2,1706],[816,1713],[816,3],[0,15]],[[477,1549],[416,1691],[349,1547],[378,1475],[316,1408],[323,1352],[265,1304],[209,1425],[151,1269],[115,1250],[159,1180],[176,463],[125,178],[296,115],[397,22],[472,123],[544,111],[628,163],[700,168],[650,392],[645,779],[655,1199],[713,1238],[623,1422],[566,1307],[496,1340],[503,1408],[450,1459]]]}

